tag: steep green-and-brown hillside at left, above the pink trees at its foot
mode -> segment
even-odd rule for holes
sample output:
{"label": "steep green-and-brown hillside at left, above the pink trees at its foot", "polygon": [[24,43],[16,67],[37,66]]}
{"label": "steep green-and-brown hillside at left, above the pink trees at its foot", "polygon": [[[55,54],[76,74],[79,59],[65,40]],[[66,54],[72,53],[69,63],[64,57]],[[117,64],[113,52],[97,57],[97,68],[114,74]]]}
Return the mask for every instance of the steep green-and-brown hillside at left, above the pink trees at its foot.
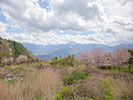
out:
{"label": "steep green-and-brown hillside at left, above the pink trees at its foot", "polygon": [[19,55],[32,58],[33,55],[21,43],[0,37],[0,62],[4,58],[17,58]]}

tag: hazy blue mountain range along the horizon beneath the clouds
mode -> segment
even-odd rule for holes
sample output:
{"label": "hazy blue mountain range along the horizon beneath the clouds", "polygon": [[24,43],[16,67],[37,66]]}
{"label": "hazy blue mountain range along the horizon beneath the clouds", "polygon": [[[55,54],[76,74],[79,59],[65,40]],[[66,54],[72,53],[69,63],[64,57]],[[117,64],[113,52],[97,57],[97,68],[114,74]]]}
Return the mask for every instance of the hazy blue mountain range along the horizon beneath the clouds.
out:
{"label": "hazy blue mountain range along the horizon beneath the clouds", "polygon": [[113,52],[115,49],[120,48],[131,48],[133,49],[133,44],[119,44],[116,46],[108,46],[103,44],[78,44],[70,42],[68,44],[58,44],[58,45],[36,45],[23,43],[23,45],[31,51],[36,57],[42,59],[50,59],[55,56],[66,56],[69,54],[74,54],[76,57],[81,51],[89,51],[93,48],[103,48],[107,52]]}

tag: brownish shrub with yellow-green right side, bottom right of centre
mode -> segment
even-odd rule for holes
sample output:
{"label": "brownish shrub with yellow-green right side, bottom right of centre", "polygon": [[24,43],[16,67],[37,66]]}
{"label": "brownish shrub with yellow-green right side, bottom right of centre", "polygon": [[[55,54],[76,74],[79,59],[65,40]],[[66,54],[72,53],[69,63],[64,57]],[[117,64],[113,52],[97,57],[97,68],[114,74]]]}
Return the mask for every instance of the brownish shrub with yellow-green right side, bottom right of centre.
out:
{"label": "brownish shrub with yellow-green right side, bottom right of centre", "polygon": [[[75,94],[83,100],[112,100],[112,78],[98,79],[97,76],[76,86]],[[79,99],[79,100],[82,100]]]}

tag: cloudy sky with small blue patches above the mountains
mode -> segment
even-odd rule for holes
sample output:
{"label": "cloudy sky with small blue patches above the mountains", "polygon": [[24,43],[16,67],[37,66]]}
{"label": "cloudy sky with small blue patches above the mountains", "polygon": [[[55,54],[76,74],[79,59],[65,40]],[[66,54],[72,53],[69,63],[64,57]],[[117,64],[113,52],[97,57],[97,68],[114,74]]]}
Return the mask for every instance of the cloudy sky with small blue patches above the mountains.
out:
{"label": "cloudy sky with small blue patches above the mountains", "polygon": [[0,0],[0,36],[21,43],[133,43],[133,0]]}

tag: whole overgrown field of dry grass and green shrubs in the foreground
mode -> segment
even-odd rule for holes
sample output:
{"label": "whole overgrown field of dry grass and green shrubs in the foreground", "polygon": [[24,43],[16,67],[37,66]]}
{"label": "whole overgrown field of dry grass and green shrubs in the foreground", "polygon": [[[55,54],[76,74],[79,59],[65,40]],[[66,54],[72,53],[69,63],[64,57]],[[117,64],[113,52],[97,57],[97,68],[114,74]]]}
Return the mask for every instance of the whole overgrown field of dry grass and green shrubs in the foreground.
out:
{"label": "whole overgrown field of dry grass and green shrubs in the foreground", "polygon": [[133,100],[131,72],[43,61],[5,66],[0,68],[0,100]]}

